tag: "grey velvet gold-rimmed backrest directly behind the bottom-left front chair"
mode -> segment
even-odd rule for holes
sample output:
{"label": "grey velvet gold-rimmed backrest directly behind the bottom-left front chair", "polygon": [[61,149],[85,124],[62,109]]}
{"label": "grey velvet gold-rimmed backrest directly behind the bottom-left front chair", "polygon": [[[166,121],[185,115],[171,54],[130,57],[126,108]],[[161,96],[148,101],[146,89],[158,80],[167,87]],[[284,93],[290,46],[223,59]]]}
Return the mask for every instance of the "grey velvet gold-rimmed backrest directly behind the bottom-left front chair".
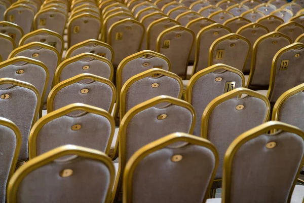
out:
{"label": "grey velvet gold-rimmed backrest directly behind the bottom-left front chair", "polygon": [[114,119],[107,111],[81,103],[67,105],[33,125],[29,136],[29,159],[66,144],[109,154],[114,129]]}

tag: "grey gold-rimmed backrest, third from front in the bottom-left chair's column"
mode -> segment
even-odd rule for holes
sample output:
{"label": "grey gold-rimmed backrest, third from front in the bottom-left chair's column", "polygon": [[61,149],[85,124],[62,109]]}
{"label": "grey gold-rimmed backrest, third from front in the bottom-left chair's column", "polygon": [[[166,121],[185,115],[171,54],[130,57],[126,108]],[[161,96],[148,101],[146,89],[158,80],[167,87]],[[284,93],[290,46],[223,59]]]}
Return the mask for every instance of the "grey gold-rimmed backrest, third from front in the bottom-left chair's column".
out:
{"label": "grey gold-rimmed backrest, third from front in the bottom-left chair's column", "polygon": [[64,80],[48,96],[48,113],[73,103],[83,103],[111,112],[116,98],[113,83],[89,73]]}

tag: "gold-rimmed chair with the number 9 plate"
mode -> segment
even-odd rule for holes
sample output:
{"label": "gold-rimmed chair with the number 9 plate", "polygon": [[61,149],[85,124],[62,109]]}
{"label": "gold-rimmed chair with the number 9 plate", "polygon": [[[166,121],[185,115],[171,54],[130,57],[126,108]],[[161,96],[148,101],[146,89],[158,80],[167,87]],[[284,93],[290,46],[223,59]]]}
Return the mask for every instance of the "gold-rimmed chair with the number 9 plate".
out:
{"label": "gold-rimmed chair with the number 9 plate", "polygon": [[113,65],[117,66],[125,57],[140,50],[144,32],[144,26],[131,18],[120,20],[110,26],[107,42],[115,52]]}

